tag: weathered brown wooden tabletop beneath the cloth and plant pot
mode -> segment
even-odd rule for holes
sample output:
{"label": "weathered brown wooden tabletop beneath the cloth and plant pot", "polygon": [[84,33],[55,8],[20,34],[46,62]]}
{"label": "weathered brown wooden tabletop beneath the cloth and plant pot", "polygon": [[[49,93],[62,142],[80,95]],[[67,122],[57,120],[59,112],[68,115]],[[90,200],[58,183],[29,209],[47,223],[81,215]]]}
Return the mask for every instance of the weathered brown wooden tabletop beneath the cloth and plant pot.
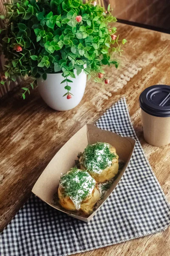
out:
{"label": "weathered brown wooden tabletop beneath the cloth and plant pot", "polygon": [[[153,84],[170,84],[170,35],[117,23],[126,38],[121,67],[107,68],[111,82],[89,81],[77,108],[57,112],[35,90],[25,101],[12,93],[0,106],[0,228],[13,218],[31,188],[59,148],[87,122],[95,123],[125,96],[144,152],[170,201],[170,145],[153,147],[143,138],[139,94]],[[170,229],[121,244],[78,253],[77,256],[167,256]]]}

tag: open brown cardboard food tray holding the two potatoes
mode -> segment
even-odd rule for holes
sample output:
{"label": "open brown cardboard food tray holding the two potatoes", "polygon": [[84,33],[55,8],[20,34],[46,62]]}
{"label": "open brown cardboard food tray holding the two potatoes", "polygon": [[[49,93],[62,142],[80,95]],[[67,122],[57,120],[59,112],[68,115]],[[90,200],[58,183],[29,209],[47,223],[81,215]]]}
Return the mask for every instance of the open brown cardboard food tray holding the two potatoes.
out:
{"label": "open brown cardboard food tray holding the two potatoes", "polygon": [[[75,166],[75,160],[79,152],[84,151],[88,144],[97,142],[110,143],[116,148],[116,153],[119,159],[125,162],[125,165],[120,170],[118,177],[114,180],[110,189],[108,189],[102,201],[99,203],[97,209],[88,217],[77,216],[76,214],[69,213],[67,210],[54,205],[54,194],[57,192],[61,173],[68,172],[70,168]],[[48,166],[40,175],[35,183],[32,192],[37,195],[42,201],[49,204],[55,209],[65,212],[68,215],[77,218],[81,221],[89,222],[106,201],[108,196],[113,192],[119,180],[122,178],[127,165],[135,147],[136,140],[130,137],[122,137],[111,131],[105,131],[97,128],[95,125],[87,124],[83,126],[65,145],[55,154]]]}

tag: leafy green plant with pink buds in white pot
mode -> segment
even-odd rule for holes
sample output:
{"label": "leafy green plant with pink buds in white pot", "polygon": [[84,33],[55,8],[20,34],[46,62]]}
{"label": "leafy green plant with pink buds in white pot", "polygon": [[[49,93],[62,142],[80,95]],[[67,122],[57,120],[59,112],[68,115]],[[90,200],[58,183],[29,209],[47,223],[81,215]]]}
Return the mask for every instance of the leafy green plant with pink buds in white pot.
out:
{"label": "leafy green plant with pink buds in white pot", "polygon": [[[12,0],[4,3],[6,17],[1,29],[1,51],[7,58],[4,77],[8,83],[29,76],[22,87],[26,98],[39,85],[44,101],[59,111],[74,108],[85,91],[86,76],[109,83],[104,65],[115,65],[121,44],[111,15],[95,1]],[[1,81],[4,84],[6,81]]]}

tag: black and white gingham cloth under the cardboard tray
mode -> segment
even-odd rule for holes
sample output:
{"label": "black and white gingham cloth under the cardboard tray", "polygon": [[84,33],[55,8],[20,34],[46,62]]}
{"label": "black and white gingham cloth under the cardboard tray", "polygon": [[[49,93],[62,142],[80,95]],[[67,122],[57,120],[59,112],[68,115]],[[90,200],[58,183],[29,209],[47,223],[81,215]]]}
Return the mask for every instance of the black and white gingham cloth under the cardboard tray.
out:
{"label": "black and white gingham cloth under the cardboard tray", "polygon": [[1,233],[0,255],[65,256],[157,233],[170,224],[170,206],[130,123],[125,99],[96,125],[137,141],[114,192],[90,223],[71,218],[32,195]]}

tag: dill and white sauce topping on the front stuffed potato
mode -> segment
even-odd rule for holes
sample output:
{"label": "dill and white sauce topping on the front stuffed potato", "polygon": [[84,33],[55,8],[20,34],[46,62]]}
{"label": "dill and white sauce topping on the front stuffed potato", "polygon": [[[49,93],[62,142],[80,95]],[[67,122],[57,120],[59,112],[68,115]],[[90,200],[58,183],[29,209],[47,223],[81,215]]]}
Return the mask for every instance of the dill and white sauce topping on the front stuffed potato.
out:
{"label": "dill and white sauce topping on the front stuffed potato", "polygon": [[83,201],[88,196],[90,189],[95,187],[96,181],[88,172],[72,168],[70,172],[60,178],[63,188],[63,197],[70,197]]}

